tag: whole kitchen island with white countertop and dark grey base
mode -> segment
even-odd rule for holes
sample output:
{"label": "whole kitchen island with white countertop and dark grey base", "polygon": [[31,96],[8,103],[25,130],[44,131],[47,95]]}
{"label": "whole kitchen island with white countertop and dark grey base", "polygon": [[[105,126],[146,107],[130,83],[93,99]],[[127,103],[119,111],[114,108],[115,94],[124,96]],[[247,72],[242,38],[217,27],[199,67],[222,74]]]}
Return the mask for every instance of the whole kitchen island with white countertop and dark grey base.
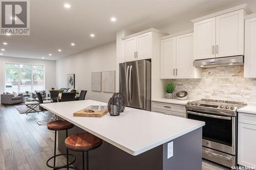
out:
{"label": "whole kitchen island with white countertop and dark grey base", "polygon": [[[75,125],[69,135],[88,131],[103,139],[89,152],[90,169],[190,169],[202,168],[202,127],[204,122],[126,107],[120,116],[75,117],[73,113],[92,100],[41,104],[40,106]],[[58,132],[58,149],[66,153],[65,132]],[[167,153],[167,146],[173,145]],[[74,165],[81,169],[81,153]],[[172,156],[168,158],[169,156]]]}

